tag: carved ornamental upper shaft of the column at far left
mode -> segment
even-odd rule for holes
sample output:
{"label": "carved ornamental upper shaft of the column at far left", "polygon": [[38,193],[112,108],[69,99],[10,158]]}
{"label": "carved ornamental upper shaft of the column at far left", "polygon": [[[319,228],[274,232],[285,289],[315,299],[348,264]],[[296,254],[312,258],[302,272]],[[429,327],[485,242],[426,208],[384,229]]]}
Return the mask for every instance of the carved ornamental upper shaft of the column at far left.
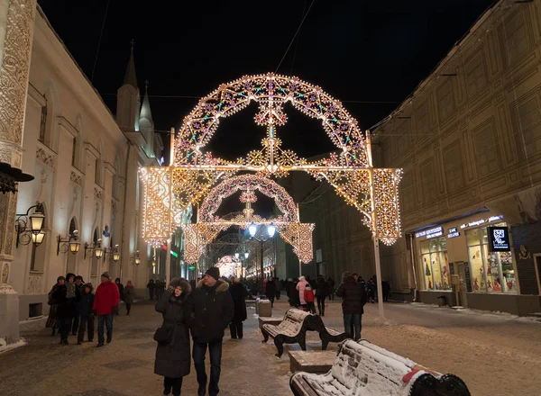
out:
{"label": "carved ornamental upper shaft of the column at far left", "polygon": [[20,145],[28,88],[35,0],[8,2],[0,65],[0,139]]}

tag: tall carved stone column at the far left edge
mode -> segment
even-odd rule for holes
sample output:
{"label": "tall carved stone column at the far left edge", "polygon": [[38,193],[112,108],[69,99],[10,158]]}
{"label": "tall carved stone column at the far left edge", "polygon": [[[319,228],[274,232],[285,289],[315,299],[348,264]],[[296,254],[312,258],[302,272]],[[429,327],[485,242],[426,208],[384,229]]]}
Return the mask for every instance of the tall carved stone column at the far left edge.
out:
{"label": "tall carved stone column at the far left edge", "polygon": [[[0,161],[21,167],[36,0],[0,0]],[[33,155],[33,153],[32,153]],[[19,298],[9,284],[16,193],[0,193],[0,343],[19,339]]]}

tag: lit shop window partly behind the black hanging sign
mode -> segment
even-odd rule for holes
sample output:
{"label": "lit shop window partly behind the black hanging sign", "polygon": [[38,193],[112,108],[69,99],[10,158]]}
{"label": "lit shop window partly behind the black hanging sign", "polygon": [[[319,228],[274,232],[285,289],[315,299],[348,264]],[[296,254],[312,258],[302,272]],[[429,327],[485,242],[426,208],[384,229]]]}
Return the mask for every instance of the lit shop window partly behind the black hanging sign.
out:
{"label": "lit shop window partly behind the black hanging sign", "polygon": [[[506,223],[495,224],[506,227]],[[472,291],[517,293],[511,252],[489,252],[487,229],[466,231],[472,273]]]}

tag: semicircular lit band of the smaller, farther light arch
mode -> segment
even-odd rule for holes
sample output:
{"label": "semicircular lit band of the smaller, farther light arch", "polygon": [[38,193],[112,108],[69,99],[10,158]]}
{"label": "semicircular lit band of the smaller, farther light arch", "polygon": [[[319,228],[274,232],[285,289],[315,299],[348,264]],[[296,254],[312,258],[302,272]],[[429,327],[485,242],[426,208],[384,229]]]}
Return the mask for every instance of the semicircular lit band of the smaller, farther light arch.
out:
{"label": "semicircular lit band of the smaller, farther light arch", "polygon": [[215,211],[219,208],[224,198],[231,196],[237,191],[259,191],[272,198],[276,206],[283,213],[277,220],[297,221],[297,207],[293,198],[286,190],[276,182],[266,177],[257,175],[238,175],[231,177],[218,184],[207,195],[199,209],[199,220],[202,222],[214,222]]}

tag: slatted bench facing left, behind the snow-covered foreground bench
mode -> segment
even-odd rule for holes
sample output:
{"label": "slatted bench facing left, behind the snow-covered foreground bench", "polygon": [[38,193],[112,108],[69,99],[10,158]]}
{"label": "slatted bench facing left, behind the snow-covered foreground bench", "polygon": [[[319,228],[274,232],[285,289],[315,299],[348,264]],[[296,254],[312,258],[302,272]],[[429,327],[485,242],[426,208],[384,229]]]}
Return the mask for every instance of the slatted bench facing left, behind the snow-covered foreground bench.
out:
{"label": "slatted bench facing left, behind the snow-covered foreground bench", "polygon": [[279,325],[264,324],[261,326],[263,343],[274,338],[274,345],[278,349],[276,356],[284,353],[284,344],[298,344],[303,351],[307,350],[307,330],[313,329],[312,323],[315,315],[305,311],[290,309],[284,315]]}

